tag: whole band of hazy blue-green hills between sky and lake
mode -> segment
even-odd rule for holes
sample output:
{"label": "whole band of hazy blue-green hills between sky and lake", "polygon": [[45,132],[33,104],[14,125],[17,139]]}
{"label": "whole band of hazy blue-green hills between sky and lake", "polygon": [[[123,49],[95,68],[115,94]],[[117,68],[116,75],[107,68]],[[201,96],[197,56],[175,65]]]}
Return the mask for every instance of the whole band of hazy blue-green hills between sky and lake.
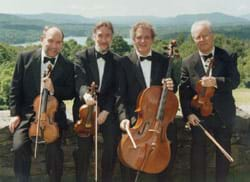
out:
{"label": "whole band of hazy blue-green hills between sky and lake", "polygon": [[[186,14],[175,17],[154,16],[110,16],[88,18],[80,15],[42,13],[42,14],[0,14],[0,42],[20,44],[39,39],[45,25],[57,25],[65,36],[90,36],[94,24],[109,20],[115,32],[129,37],[129,29],[138,21],[148,21],[156,27],[158,38],[175,38],[180,33],[189,35],[190,26],[197,20],[210,20],[216,33],[241,39],[250,39],[250,20],[248,15],[235,17],[223,13]],[[249,18],[250,19],[250,18]]]}

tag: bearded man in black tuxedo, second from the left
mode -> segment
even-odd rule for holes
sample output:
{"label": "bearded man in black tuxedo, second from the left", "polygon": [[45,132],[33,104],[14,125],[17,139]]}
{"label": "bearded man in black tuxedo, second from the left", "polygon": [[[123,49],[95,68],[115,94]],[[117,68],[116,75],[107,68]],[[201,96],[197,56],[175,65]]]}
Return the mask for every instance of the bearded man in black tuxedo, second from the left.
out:
{"label": "bearded man in black tuxedo, second from the left", "polygon": [[[116,62],[119,56],[110,51],[113,26],[108,21],[101,21],[93,29],[95,45],[78,52],[75,65],[75,85],[78,97],[74,101],[74,121],[79,119],[78,111],[83,103],[95,104],[88,93],[88,87],[95,82],[99,114],[97,122],[103,136],[101,161],[101,181],[111,182],[116,161],[116,148],[119,141],[119,123],[114,112],[116,90]],[[90,158],[93,149],[93,136],[77,136],[77,149],[74,151],[76,181],[88,180]]]}

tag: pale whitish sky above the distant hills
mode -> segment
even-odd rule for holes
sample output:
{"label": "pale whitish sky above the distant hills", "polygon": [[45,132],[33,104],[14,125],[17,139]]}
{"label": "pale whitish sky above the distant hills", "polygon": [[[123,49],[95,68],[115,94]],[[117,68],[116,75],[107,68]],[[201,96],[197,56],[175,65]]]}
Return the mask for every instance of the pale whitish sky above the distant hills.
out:
{"label": "pale whitish sky above the distant hills", "polygon": [[221,12],[250,14],[250,0],[0,0],[0,13],[75,14],[97,16],[158,16]]}

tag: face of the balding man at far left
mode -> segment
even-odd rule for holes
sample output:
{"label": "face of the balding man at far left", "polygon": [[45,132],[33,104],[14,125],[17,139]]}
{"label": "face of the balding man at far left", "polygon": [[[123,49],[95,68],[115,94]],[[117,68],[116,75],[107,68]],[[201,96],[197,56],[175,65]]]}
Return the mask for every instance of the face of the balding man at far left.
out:
{"label": "face of the balding man at far left", "polygon": [[63,47],[62,33],[56,29],[49,29],[41,38],[42,49],[49,57],[56,57]]}

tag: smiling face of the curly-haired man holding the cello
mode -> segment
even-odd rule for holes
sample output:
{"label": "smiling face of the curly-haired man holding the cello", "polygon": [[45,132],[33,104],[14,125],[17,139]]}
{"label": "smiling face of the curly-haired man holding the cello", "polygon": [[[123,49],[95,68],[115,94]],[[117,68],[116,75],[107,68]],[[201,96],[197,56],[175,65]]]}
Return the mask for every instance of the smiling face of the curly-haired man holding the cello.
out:
{"label": "smiling face of the curly-haired man holding the cello", "polygon": [[143,56],[146,56],[153,44],[152,33],[150,29],[138,28],[134,36],[134,46],[136,50]]}

